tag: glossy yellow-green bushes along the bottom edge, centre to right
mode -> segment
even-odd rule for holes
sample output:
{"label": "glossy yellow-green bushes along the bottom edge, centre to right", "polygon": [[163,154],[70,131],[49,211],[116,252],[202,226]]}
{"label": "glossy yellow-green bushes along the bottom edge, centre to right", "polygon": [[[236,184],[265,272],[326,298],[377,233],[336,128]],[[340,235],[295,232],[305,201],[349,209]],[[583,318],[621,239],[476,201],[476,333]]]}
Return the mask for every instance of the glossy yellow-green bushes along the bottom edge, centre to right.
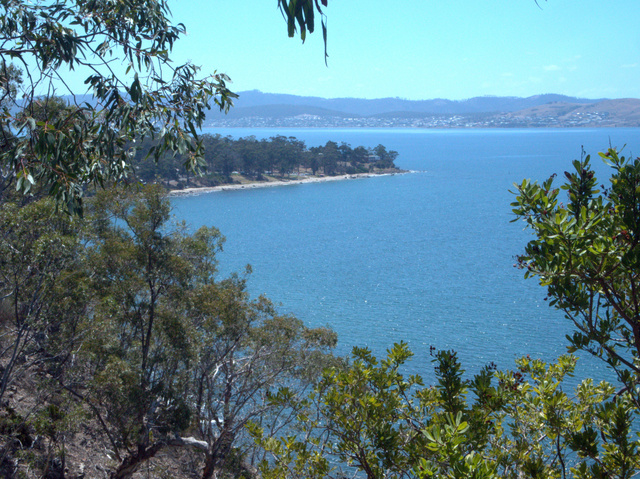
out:
{"label": "glossy yellow-green bushes along the bottom edge, centre to right", "polygon": [[303,433],[252,432],[272,460],[265,478],[612,478],[640,473],[638,411],[629,394],[565,380],[576,359],[522,358],[515,371],[483,369],[471,379],[454,353],[435,355],[437,383],[399,371],[411,356],[396,345],[378,362],[356,348],[330,370],[299,414]]}

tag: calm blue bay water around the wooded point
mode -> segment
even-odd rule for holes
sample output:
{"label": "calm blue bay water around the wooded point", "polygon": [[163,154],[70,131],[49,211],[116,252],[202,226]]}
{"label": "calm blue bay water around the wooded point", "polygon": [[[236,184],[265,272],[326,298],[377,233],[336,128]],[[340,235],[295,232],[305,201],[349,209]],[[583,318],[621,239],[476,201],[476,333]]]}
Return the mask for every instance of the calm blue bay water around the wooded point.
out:
{"label": "calm blue bay water around the wooded point", "polygon": [[[570,323],[514,268],[530,234],[510,223],[509,193],[523,178],[570,169],[581,148],[640,152],[640,129],[212,130],[234,137],[296,136],[353,147],[382,143],[417,172],[321,184],[180,197],[175,214],[227,237],[224,273],[253,267],[249,289],[312,326],[383,355],[406,341],[413,372],[432,377],[429,347],[455,349],[470,371],[566,351]],[[599,158],[597,169],[606,175]],[[580,375],[603,367],[582,360]]]}

